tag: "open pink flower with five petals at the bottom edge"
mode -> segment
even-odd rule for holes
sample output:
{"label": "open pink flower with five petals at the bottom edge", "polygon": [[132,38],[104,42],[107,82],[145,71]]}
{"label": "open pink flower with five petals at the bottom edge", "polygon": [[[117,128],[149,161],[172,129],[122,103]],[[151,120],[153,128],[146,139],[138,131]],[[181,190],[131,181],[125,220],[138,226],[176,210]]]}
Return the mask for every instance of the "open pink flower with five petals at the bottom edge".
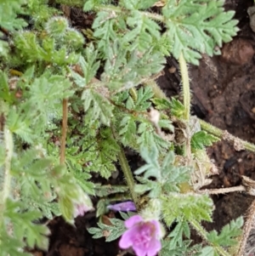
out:
{"label": "open pink flower with five petals at the bottom edge", "polygon": [[119,246],[133,247],[137,256],[155,256],[161,249],[161,225],[157,220],[144,221],[139,215],[125,221],[127,230],[122,235]]}

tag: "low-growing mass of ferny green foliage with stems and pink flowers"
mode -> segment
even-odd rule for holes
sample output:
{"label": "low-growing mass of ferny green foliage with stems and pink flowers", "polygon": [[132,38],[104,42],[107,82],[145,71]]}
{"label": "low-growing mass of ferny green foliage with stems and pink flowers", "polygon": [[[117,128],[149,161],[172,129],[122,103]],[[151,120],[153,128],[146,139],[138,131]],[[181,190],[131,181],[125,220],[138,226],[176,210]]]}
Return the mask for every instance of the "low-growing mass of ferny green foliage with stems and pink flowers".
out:
{"label": "low-growing mass of ferny green foliage with stems and pink flowers", "polygon": [[[92,28],[71,27],[59,3],[94,15]],[[236,150],[255,146],[190,116],[186,64],[220,54],[236,35],[224,1],[2,0],[0,14],[1,256],[47,250],[43,218],[73,223],[94,208],[94,238],[122,236],[120,247],[139,256],[242,255],[241,218],[219,233],[201,224],[212,221],[209,194],[218,193],[202,190],[218,172],[206,147],[219,139]],[[155,82],[169,55],[179,63],[183,103]],[[125,148],[144,166],[132,172]],[[125,182],[107,185],[117,162]],[[252,194],[247,182],[231,189]],[[98,196],[96,206],[89,196]],[[105,225],[109,209],[124,220]],[[201,244],[191,245],[190,229]]]}

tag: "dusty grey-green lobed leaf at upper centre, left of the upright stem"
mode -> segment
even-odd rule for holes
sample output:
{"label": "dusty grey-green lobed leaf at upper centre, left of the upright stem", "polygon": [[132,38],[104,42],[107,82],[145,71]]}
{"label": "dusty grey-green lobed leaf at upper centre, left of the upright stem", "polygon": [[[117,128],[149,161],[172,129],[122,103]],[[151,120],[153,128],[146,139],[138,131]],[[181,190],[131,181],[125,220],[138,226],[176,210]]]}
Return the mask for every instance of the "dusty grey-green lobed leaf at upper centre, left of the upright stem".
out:
{"label": "dusty grey-green lobed leaf at upper centre, left of the upright stem", "polygon": [[106,62],[101,81],[115,93],[138,86],[145,78],[161,71],[166,61],[163,54],[151,48],[143,54],[138,49],[131,51],[122,39],[115,39],[104,55]]}

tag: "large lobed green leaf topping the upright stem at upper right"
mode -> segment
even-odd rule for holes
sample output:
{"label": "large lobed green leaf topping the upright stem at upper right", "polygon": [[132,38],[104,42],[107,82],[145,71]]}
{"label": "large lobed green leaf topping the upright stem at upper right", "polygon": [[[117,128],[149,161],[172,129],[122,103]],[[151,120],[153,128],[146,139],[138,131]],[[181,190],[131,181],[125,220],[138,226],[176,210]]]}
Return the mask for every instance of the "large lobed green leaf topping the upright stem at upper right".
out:
{"label": "large lobed green leaf topping the upright stem at upper right", "polygon": [[224,12],[223,4],[218,0],[167,1],[162,12],[167,19],[167,35],[173,42],[175,58],[183,52],[188,62],[198,65],[200,53],[212,56],[216,45],[221,47],[236,35],[237,20],[231,20],[235,12]]}

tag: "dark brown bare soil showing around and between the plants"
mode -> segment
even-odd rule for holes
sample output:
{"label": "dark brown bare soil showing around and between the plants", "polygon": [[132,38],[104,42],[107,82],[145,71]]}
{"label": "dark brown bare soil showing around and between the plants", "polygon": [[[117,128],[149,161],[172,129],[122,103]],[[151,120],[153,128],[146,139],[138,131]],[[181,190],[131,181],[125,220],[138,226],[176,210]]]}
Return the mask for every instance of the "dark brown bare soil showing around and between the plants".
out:
{"label": "dark brown bare soil showing around and between the plants", "polygon": [[[249,26],[246,10],[252,6],[251,1],[229,0],[226,9],[236,11],[235,18],[240,20],[241,31],[235,40],[243,40],[235,45],[224,48],[229,57],[203,56],[199,66],[190,65],[190,79],[193,93],[193,114],[211,122],[218,128],[227,129],[229,133],[255,143],[255,59],[241,45],[248,48],[255,46],[254,32]],[[75,12],[70,14],[73,24],[82,26],[82,19],[91,24],[93,17]],[[77,13],[79,15],[77,15]],[[236,51],[240,54],[236,57]],[[232,54],[232,55],[231,55]],[[234,54],[234,55],[233,55]],[[249,55],[250,54],[250,55]],[[245,60],[243,60],[245,59]],[[174,71],[176,69],[176,71]],[[158,78],[158,84],[168,96],[177,95],[180,91],[178,63],[167,59],[165,75]],[[241,184],[241,175],[255,179],[255,155],[249,151],[235,151],[232,145],[218,142],[208,149],[209,156],[218,166],[219,174],[213,176],[210,188],[230,187]],[[213,223],[208,229],[220,230],[231,219],[246,213],[251,204],[252,196],[244,193],[213,196],[215,211]],[[36,252],[37,256],[115,256],[118,254],[117,242],[105,243],[104,239],[94,240],[86,230],[96,225],[94,213],[77,218],[76,225],[65,224],[57,218],[49,223],[52,231],[48,252]],[[255,231],[252,230],[246,248],[246,255],[255,255]],[[127,255],[127,254],[126,254]]]}

